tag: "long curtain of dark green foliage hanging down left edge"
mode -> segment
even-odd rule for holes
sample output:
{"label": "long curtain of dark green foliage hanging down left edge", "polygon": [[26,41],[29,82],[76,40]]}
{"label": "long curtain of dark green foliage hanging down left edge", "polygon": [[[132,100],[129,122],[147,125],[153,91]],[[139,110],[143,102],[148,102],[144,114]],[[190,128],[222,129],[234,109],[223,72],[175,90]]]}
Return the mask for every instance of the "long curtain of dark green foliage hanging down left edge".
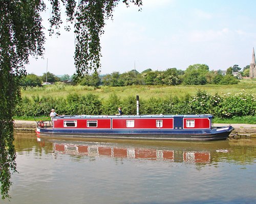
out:
{"label": "long curtain of dark green foliage hanging down left edge", "polygon": [[0,0],[0,183],[2,198],[9,197],[11,173],[16,170],[13,146],[14,107],[19,96],[19,79],[25,75],[29,56],[41,56],[41,1]]}

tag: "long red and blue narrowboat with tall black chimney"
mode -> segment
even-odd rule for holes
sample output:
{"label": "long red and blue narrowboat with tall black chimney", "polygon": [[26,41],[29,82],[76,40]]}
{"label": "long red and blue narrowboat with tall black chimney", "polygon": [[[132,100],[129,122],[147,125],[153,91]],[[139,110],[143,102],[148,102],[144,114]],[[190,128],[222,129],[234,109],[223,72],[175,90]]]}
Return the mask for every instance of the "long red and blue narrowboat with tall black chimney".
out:
{"label": "long red and blue narrowboat with tall black chimney", "polygon": [[64,115],[49,122],[37,122],[38,135],[158,139],[158,140],[222,140],[231,125],[212,127],[212,115]]}

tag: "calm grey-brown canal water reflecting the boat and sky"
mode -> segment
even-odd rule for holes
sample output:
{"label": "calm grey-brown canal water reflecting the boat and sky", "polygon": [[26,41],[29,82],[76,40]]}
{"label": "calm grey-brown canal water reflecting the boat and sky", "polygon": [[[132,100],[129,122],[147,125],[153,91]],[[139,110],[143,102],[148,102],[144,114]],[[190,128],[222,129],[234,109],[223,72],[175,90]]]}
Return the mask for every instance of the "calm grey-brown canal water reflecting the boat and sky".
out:
{"label": "calm grey-brown canal water reflecting the boat and sky", "polygon": [[67,140],[16,134],[1,203],[256,203],[256,139]]}

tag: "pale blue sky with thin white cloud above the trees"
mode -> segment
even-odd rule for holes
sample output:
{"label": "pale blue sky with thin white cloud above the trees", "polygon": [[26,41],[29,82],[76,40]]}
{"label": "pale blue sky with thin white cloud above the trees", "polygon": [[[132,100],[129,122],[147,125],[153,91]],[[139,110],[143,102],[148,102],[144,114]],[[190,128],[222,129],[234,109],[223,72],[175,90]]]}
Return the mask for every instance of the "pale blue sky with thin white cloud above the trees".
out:
{"label": "pale blue sky with thin white cloud above the trees", "polygon": [[[206,64],[210,70],[243,68],[251,63],[256,47],[254,0],[142,0],[138,7],[120,1],[101,36],[100,74],[136,69],[185,70]],[[28,73],[75,73],[74,33],[61,28],[59,37],[48,35],[49,5],[42,13],[46,32],[44,59],[30,58]],[[63,16],[65,21],[65,16]],[[66,23],[63,23],[64,27]],[[48,59],[48,63],[47,63]]]}

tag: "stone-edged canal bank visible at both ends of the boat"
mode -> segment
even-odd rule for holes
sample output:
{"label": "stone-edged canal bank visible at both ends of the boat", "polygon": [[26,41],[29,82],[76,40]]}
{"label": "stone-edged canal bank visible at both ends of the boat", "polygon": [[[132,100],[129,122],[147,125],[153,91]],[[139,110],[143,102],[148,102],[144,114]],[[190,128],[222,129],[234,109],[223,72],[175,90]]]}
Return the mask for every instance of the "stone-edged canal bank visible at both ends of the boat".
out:
{"label": "stone-edged canal bank visible at both ends of the boat", "polygon": [[[27,120],[14,120],[14,130],[16,132],[35,132],[37,126],[35,121]],[[215,127],[218,126],[228,126],[229,124],[223,123],[214,123]],[[231,124],[234,127],[234,130],[229,137],[248,137],[256,138],[256,124]]]}

